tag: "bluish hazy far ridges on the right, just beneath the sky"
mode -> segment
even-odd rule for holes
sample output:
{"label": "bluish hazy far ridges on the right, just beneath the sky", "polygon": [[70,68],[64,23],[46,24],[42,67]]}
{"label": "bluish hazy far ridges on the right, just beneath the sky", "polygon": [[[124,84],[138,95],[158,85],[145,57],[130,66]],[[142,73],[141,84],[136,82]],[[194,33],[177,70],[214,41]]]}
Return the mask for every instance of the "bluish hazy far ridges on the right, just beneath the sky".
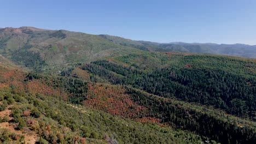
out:
{"label": "bluish hazy far ridges on the right, just beneath the sky", "polygon": [[[141,50],[159,52],[189,52],[189,53],[208,53],[214,55],[227,55],[256,58],[256,45],[245,44],[213,44],[213,43],[155,43],[152,41],[132,41],[110,35],[101,35],[114,43],[135,47]],[[137,43],[136,43],[137,42]]]}

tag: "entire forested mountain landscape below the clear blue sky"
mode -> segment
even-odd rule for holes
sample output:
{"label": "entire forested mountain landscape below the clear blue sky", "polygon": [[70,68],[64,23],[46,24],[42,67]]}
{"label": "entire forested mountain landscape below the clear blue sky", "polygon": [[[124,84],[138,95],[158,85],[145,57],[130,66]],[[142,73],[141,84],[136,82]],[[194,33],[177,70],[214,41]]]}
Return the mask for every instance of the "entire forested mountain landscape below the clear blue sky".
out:
{"label": "entire forested mountain landscape below the clear blue sky", "polygon": [[0,29],[0,143],[255,143],[254,50]]}

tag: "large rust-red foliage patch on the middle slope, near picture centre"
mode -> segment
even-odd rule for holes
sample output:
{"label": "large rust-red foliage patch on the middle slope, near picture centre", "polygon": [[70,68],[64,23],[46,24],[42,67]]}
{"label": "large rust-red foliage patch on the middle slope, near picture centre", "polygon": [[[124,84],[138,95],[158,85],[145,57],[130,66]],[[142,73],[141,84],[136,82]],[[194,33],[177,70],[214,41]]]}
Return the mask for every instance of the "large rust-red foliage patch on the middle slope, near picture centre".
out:
{"label": "large rust-red foliage patch on the middle slope, near picture centre", "polygon": [[110,85],[89,85],[88,100],[84,105],[112,115],[136,118],[143,115],[146,107],[137,105],[125,94],[125,89]]}

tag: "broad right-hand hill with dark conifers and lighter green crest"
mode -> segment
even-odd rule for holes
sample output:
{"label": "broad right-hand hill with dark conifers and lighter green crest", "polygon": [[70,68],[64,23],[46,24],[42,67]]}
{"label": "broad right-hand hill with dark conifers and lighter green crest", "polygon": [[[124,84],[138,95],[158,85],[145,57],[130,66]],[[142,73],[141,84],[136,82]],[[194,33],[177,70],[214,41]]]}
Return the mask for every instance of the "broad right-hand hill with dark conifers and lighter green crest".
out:
{"label": "broad right-hand hill with dark conifers and lighter green crest", "polygon": [[92,62],[82,69],[115,85],[131,85],[162,97],[215,105],[237,116],[255,117],[254,59],[155,53],[117,59]]}

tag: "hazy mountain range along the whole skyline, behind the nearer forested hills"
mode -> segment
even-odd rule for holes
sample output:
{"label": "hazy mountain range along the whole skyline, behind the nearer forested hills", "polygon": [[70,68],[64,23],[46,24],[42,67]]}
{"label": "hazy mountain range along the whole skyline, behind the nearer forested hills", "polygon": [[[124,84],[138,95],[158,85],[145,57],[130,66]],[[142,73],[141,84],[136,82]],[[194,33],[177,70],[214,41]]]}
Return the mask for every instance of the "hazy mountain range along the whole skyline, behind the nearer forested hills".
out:
{"label": "hazy mountain range along the whole skyline, behind the nearer forested hills", "polygon": [[256,46],[245,44],[154,43],[34,27],[0,29],[0,54],[26,67],[90,62],[139,51],[210,53],[256,58]]}

